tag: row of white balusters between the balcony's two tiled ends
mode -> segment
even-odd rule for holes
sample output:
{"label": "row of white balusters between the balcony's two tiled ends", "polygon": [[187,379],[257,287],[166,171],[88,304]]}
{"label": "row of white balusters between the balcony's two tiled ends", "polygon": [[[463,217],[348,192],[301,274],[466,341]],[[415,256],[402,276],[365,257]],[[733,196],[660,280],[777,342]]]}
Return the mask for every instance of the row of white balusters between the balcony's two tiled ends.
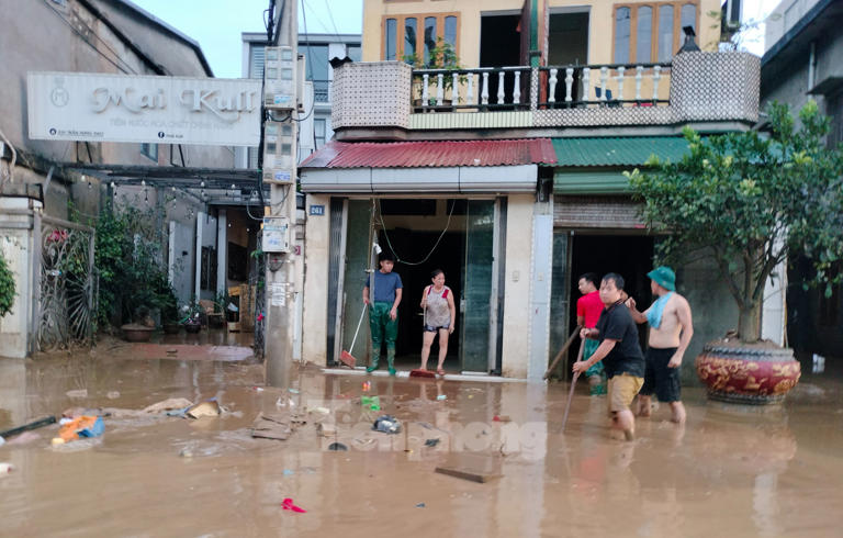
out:
{"label": "row of white balusters between the balcony's two tiled ends", "polygon": [[670,68],[616,64],[415,69],[412,100],[418,112],[666,104]]}

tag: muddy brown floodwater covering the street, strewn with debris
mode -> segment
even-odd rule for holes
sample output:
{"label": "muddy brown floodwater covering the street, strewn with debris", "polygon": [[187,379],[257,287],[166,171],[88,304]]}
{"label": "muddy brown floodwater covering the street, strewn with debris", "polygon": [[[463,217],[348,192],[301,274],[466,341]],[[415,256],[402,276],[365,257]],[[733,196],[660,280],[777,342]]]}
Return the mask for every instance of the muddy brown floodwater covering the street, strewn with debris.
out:
{"label": "muddy brown floodwater covering the street, strewn with debris", "polygon": [[[0,359],[1,429],[75,406],[111,413],[100,438],[52,447],[54,425],[0,447],[0,461],[14,466],[0,477],[0,535],[843,533],[836,379],[806,374],[766,413],[710,404],[700,389],[686,389],[684,428],[664,422],[662,406],[626,442],[609,433],[605,399],[584,392],[562,435],[564,383],[326,376],[311,365],[292,368],[290,386],[276,389],[263,388],[263,367],[248,360],[143,349]],[[381,411],[361,404],[374,395]],[[215,397],[224,413],[138,413],[169,397]],[[252,438],[261,412],[297,421],[290,437]],[[400,434],[371,430],[386,413],[401,421]],[[348,450],[328,450],[333,442]],[[438,466],[490,481],[437,473]],[[307,512],[283,509],[288,497]]]}

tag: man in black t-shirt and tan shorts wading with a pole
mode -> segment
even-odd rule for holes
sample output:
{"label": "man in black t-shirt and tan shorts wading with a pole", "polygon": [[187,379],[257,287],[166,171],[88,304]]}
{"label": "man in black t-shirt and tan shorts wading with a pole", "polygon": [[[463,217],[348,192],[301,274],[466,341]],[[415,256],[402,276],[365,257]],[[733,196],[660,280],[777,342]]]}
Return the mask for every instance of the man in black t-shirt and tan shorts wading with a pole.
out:
{"label": "man in black t-shirt and tan shorts wading with a pole", "polygon": [[600,282],[600,300],[606,306],[596,328],[583,328],[581,338],[600,340],[588,358],[574,362],[574,372],[582,373],[603,360],[609,378],[609,412],[612,425],[628,440],[634,437],[636,418],[629,406],[644,383],[644,354],[638,345],[638,326],[623,306],[623,277],[610,272]]}

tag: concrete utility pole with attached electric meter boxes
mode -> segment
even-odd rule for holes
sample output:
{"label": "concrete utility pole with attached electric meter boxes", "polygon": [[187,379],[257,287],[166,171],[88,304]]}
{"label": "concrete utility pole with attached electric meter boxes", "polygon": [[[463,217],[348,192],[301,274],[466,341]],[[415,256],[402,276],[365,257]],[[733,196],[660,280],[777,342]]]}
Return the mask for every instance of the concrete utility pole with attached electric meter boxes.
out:
{"label": "concrete utility pole with attached electric meter boxes", "polygon": [[[292,102],[289,103],[290,110],[284,110],[283,107],[277,107],[281,101],[282,104],[288,104],[283,99],[288,96],[283,94],[279,100],[278,94],[270,96],[269,78],[272,72],[271,69],[278,67],[279,71],[283,71],[289,65],[284,60],[288,59],[286,55],[290,54],[285,47],[289,47],[292,52],[293,66],[297,65],[297,35],[299,23],[296,13],[295,0],[278,0],[281,3],[281,9],[278,10],[278,35],[273,36],[273,42],[270,45],[279,47],[279,56],[277,66],[267,58],[265,67],[265,98],[263,103],[267,110],[270,111],[279,122],[267,122],[266,117],[263,123],[263,147],[261,148],[263,160],[261,162],[261,173],[263,180],[270,184],[270,204],[269,215],[263,218],[263,250],[267,253],[267,272],[266,272],[266,303],[267,303],[267,320],[266,320],[266,361],[267,361],[267,383],[272,386],[286,386],[289,384],[289,370],[293,359],[293,326],[295,320],[295,265],[293,264],[293,249],[295,243],[295,184],[296,184],[296,162],[295,162],[295,141],[299,136],[299,125],[293,117],[297,117],[297,103],[301,102],[302,96],[299,91],[299,78],[303,77],[303,72],[299,72],[297,68],[293,69],[292,76]],[[270,7],[276,2],[273,1]],[[267,49],[269,55],[270,49]],[[283,79],[282,75],[279,79]],[[274,99],[274,101],[273,101]],[[268,124],[270,124],[268,126]],[[278,137],[274,137],[276,131],[279,130]],[[283,131],[283,135],[281,133]],[[291,146],[288,146],[288,150],[292,152],[291,161],[288,165],[286,156],[282,156],[283,141],[291,142]],[[272,148],[276,147],[276,154],[272,154]],[[268,162],[268,155],[273,155],[271,162]],[[276,159],[274,156],[279,158]],[[274,167],[274,168],[273,168]],[[289,172],[289,173],[288,173]],[[277,232],[278,236],[272,236],[272,232]],[[268,235],[269,234],[269,235]],[[279,247],[278,237],[282,237],[280,243],[285,242],[285,246]],[[270,239],[270,240],[268,240]],[[272,246],[274,244],[274,247]]]}

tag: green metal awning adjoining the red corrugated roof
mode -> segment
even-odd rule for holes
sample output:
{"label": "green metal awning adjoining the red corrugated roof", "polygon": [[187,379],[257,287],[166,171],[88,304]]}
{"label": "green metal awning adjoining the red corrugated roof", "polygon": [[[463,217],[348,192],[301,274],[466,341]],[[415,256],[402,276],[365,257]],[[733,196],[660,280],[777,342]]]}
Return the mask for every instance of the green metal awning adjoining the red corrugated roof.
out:
{"label": "green metal awning adjoining the red corrugated roof", "polygon": [[677,136],[553,138],[557,194],[622,194],[629,192],[623,170],[641,167],[656,155],[676,161],[688,142]]}

